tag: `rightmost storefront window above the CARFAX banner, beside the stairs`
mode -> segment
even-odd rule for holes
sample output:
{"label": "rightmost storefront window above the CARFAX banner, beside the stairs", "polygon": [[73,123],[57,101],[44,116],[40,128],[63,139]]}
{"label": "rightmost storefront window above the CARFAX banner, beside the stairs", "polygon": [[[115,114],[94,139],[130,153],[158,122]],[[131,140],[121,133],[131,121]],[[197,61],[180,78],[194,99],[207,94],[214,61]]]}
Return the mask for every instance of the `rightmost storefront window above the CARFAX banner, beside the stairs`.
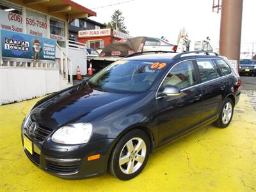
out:
{"label": "rightmost storefront window above the CARFAX banner, beside the stairs", "polygon": [[61,47],[66,47],[65,39],[65,22],[62,20],[50,19],[51,38],[57,40]]}

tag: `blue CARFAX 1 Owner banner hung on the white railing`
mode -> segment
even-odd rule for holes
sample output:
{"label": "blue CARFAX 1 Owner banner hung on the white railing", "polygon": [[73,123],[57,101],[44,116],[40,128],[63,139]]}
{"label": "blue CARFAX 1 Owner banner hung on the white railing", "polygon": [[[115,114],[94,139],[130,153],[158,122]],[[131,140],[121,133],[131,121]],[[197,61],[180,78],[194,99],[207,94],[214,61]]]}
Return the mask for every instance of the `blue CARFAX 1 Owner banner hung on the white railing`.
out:
{"label": "blue CARFAX 1 Owner banner hung on the white railing", "polygon": [[1,42],[3,57],[55,60],[56,40],[1,30]]}

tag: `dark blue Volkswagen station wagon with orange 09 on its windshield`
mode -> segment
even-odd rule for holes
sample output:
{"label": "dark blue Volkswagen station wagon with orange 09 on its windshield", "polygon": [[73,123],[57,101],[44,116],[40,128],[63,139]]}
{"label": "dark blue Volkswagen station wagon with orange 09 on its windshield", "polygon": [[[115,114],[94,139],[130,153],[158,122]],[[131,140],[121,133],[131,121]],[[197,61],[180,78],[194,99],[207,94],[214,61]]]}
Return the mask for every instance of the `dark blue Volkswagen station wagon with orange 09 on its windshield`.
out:
{"label": "dark blue Volkswagen station wagon with orange 09 on its windshield", "polygon": [[65,179],[109,171],[128,180],[154,148],[203,125],[230,124],[241,81],[225,58],[136,54],[35,104],[22,143],[36,166]]}

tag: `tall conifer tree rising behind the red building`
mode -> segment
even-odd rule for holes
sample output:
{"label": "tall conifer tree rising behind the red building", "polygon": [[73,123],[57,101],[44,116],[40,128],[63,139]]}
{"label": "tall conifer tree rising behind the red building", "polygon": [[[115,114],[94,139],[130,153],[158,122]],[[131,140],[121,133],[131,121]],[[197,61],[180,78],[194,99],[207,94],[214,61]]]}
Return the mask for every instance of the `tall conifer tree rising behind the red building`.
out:
{"label": "tall conifer tree rising behind the red building", "polygon": [[111,22],[108,22],[106,24],[106,28],[116,29],[118,31],[121,31],[123,33],[129,34],[129,31],[127,31],[127,28],[124,24],[124,16],[123,13],[120,10],[115,10],[113,15],[111,16]]}

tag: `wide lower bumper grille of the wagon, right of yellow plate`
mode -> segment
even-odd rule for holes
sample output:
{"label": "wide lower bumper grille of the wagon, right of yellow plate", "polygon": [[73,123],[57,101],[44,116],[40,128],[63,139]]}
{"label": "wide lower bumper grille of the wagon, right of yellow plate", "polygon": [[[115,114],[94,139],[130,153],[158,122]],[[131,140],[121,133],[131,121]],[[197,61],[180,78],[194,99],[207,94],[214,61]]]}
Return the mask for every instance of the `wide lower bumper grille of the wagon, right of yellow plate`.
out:
{"label": "wide lower bumper grille of the wagon, right of yellow plate", "polygon": [[47,170],[55,173],[76,173],[80,168],[80,160],[77,161],[52,161],[52,159],[46,159],[45,166]]}

